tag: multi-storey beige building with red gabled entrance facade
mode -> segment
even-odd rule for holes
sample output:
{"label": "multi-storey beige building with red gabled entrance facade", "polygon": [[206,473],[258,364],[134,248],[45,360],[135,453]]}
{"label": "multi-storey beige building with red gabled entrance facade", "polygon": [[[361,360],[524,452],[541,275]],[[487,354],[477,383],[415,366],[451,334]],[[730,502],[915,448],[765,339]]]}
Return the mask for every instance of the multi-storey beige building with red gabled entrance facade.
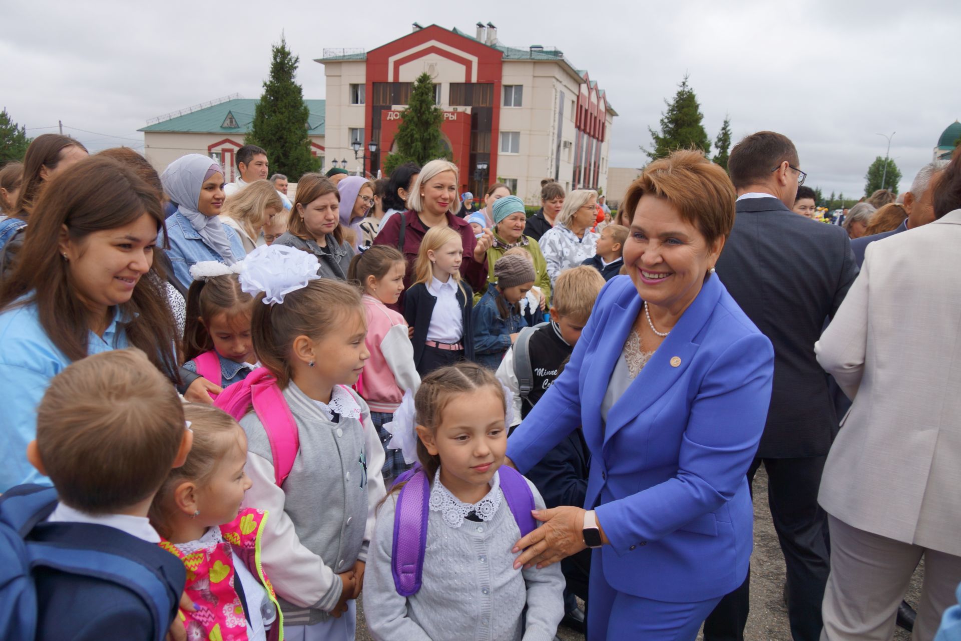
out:
{"label": "multi-storey beige building with red gabled entrance facade", "polygon": [[316,62],[327,79],[327,156],[352,172],[378,175],[427,72],[461,190],[480,196],[504,182],[534,204],[545,178],[568,190],[607,185],[617,112],[559,50],[507,47],[490,23],[474,36],[431,25],[368,52],[325,50]]}

